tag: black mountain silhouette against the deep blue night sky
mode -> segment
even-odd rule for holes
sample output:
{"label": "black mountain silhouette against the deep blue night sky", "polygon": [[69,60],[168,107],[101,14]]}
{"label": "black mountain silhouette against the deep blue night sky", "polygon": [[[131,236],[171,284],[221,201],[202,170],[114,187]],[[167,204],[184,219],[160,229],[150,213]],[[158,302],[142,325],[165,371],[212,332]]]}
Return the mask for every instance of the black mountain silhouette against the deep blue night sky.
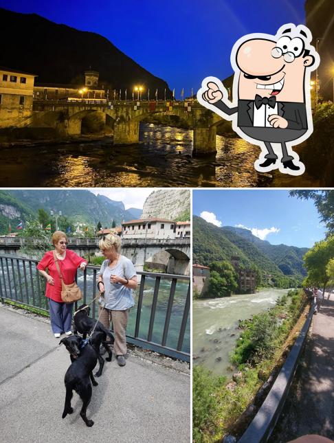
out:
{"label": "black mountain silhouette against the deep blue night sky", "polygon": [[37,83],[82,84],[84,72],[93,69],[100,73],[100,84],[106,91],[127,89],[129,93],[134,84],[142,84],[146,92],[151,89],[152,95],[158,89],[162,97],[166,89],[166,96],[172,98],[164,80],[99,34],[58,25],[37,14],[2,8],[0,22],[0,40],[5,42],[1,45],[0,65],[36,74]]}

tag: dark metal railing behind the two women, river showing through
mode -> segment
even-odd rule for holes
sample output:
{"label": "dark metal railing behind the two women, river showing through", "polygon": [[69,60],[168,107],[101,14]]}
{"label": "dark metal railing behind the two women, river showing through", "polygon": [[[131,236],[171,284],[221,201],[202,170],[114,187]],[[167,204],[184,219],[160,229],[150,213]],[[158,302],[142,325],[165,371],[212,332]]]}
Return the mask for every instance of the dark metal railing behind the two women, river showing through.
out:
{"label": "dark metal railing behind the two women, river showing through", "polygon": [[[48,313],[45,279],[38,273],[38,260],[0,255],[0,298],[32,306]],[[82,290],[78,304],[89,304],[98,294],[98,266],[78,271]],[[141,348],[190,362],[190,276],[138,272],[135,306],[131,309],[127,341]],[[77,306],[76,306],[77,307]],[[98,303],[91,304],[98,317]]]}

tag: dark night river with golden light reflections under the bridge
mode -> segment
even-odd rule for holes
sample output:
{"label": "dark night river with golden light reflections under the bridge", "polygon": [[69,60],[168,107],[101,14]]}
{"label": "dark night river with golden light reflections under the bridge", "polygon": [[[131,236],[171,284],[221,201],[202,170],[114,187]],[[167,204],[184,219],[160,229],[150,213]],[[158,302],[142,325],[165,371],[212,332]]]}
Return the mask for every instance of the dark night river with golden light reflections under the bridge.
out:
{"label": "dark night river with golden light reflections under the bridge", "polygon": [[216,137],[217,154],[192,157],[192,130],[140,125],[140,144],[111,138],[85,144],[0,149],[0,185],[26,187],[256,187],[270,174],[254,170],[260,149],[239,138]]}

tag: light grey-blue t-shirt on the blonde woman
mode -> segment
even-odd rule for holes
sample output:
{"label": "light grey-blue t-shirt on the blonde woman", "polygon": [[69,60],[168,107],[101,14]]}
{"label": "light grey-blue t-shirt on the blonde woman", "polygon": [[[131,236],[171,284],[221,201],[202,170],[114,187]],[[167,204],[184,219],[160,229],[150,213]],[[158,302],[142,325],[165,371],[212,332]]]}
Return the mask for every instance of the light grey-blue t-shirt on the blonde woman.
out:
{"label": "light grey-blue t-shirt on the blonde woman", "polygon": [[114,268],[109,266],[109,260],[104,260],[99,275],[102,275],[105,289],[104,297],[99,299],[101,306],[112,310],[126,310],[135,304],[131,288],[126,288],[126,286],[120,283],[110,282],[111,275],[118,275],[128,280],[136,275],[135,266],[133,266],[133,262],[129,258],[120,255]]}

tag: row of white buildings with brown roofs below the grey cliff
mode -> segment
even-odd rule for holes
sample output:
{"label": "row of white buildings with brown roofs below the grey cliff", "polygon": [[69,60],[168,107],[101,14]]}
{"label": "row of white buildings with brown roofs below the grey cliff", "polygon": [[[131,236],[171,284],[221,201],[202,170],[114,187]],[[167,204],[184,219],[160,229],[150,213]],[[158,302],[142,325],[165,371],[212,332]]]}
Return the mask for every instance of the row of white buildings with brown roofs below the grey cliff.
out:
{"label": "row of white buildings with brown roofs below the grey cliff", "polygon": [[173,222],[164,218],[140,218],[122,223],[122,238],[175,239],[190,238],[190,222]]}

